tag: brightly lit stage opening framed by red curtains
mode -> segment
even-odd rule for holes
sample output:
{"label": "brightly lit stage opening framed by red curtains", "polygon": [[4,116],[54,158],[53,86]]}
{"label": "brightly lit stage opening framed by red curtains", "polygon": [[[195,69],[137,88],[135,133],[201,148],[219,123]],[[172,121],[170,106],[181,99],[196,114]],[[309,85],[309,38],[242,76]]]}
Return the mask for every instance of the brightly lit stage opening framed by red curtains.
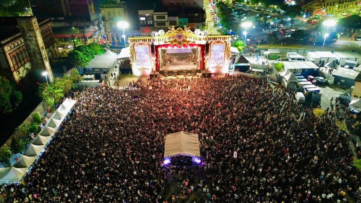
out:
{"label": "brightly lit stage opening framed by red curtains", "polygon": [[200,48],[160,48],[160,70],[197,70],[200,67]]}

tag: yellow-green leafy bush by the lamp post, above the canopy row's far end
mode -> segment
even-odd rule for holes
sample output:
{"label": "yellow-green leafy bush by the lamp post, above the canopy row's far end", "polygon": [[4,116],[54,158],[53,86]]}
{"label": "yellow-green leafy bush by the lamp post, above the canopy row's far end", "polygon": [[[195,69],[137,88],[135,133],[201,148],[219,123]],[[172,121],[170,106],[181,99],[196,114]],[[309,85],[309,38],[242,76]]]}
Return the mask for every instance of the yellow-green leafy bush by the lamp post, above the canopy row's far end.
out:
{"label": "yellow-green leafy bush by the lamp post, above the canopy row's far end", "polygon": [[45,100],[45,103],[49,106],[54,106],[55,103],[60,102],[64,95],[71,89],[75,88],[73,81],[69,78],[55,78],[53,83],[47,85],[42,83],[38,87],[39,96]]}

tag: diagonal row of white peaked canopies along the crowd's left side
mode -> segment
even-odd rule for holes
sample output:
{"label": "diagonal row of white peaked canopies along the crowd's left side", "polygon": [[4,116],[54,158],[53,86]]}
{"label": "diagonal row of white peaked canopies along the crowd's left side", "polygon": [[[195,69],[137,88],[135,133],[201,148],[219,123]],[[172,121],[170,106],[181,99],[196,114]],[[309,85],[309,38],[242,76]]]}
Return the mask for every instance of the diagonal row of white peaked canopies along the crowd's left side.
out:
{"label": "diagonal row of white peaked canopies along the crowd's left side", "polygon": [[29,147],[20,156],[12,167],[0,168],[0,183],[15,183],[27,173],[29,167],[38,158],[39,154],[44,150],[46,144],[58,130],[61,122],[73,108],[76,100],[66,98],[65,101],[56,110],[54,115],[47,122],[45,127],[31,141]]}

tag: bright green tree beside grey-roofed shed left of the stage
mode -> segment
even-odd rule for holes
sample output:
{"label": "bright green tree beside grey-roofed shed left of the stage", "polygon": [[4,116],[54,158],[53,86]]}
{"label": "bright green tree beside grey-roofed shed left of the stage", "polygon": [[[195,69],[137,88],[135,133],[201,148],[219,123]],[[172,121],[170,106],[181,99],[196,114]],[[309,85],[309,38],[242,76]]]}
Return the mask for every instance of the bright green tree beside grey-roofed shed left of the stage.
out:
{"label": "bright green tree beside grey-roofed shed left of the stage", "polygon": [[85,67],[88,65],[95,55],[104,53],[104,49],[95,43],[80,45],[71,50],[68,54],[70,63],[74,67]]}

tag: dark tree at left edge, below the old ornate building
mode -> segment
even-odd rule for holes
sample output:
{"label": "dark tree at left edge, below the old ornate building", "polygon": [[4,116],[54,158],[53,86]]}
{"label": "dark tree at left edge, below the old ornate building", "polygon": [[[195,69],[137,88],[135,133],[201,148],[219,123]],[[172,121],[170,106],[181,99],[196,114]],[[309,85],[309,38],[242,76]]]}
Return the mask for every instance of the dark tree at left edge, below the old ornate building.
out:
{"label": "dark tree at left edge, below the old ornate building", "polygon": [[22,94],[15,85],[5,77],[0,76],[0,113],[8,114],[16,109],[22,100]]}

